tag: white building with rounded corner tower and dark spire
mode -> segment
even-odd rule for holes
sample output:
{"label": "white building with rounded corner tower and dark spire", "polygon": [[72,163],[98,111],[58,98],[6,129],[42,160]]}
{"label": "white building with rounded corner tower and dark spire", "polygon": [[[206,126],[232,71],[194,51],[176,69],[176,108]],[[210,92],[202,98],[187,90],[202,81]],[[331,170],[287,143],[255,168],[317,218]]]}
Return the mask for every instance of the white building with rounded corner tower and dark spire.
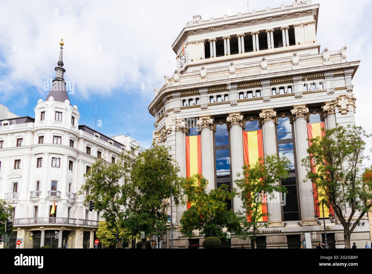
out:
{"label": "white building with rounded corner tower and dark spire", "polygon": [[[80,113],[65,88],[62,46],[55,70],[35,118],[0,120],[0,199],[12,206],[15,227],[9,248],[16,247],[16,239],[22,239],[19,248],[92,248],[101,217],[77,195],[84,174],[97,158],[112,163],[123,151],[138,155],[143,149],[129,136],[110,138],[79,125]],[[57,209],[50,215],[54,202]]]}

